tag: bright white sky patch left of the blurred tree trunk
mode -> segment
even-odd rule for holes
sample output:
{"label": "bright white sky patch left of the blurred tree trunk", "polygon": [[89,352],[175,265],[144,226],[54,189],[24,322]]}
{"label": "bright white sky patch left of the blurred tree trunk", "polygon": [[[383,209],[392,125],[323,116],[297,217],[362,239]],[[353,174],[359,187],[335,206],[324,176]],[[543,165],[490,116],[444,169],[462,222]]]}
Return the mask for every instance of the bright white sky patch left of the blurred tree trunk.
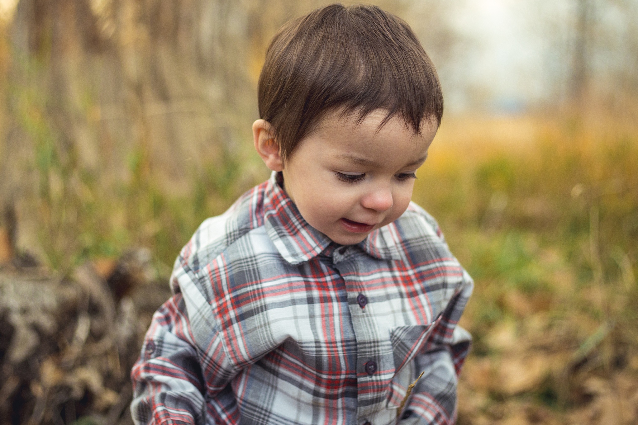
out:
{"label": "bright white sky patch left of the blurred tree trunk", "polygon": [[[558,1],[544,2],[544,12]],[[478,98],[492,112],[519,112],[542,96],[545,28],[539,12],[533,0],[466,0],[457,8],[453,22],[469,45],[465,87],[448,87],[451,109],[464,110]]]}

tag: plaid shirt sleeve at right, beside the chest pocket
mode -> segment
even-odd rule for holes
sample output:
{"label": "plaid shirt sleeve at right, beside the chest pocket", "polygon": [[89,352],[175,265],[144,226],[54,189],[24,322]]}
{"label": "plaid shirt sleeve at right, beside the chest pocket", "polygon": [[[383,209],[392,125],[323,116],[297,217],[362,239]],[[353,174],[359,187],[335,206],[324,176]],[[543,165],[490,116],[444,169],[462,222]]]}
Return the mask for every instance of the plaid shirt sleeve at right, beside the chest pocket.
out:
{"label": "plaid shirt sleeve at right, beside the chest pocket", "polygon": [[[457,382],[463,362],[470,351],[471,335],[457,326],[470,298],[473,282],[464,272],[463,282],[443,312],[441,321],[415,357],[417,376],[410,403],[404,408],[401,425],[452,425],[456,423]],[[406,413],[406,412],[410,413]]]}

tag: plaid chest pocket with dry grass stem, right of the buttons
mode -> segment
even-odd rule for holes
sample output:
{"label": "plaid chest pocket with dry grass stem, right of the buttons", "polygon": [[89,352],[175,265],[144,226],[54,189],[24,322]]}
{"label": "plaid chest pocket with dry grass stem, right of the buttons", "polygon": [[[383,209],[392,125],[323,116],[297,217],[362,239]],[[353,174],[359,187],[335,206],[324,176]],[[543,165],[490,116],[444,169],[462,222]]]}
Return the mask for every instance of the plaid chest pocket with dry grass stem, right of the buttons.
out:
{"label": "plaid chest pocket with dry grass stem, right of the buttons", "polygon": [[[387,408],[398,408],[405,397],[408,385],[417,378],[414,359],[424,349],[432,331],[441,321],[441,316],[436,321],[427,325],[397,326],[390,329],[390,342],[394,356],[394,377],[390,381],[387,397]],[[426,377],[423,377],[424,379]]]}

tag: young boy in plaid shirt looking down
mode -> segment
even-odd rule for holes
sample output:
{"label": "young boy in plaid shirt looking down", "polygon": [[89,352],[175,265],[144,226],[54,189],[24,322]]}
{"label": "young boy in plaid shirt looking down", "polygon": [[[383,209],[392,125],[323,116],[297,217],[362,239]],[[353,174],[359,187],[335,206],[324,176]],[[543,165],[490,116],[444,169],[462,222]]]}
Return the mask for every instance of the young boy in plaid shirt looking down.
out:
{"label": "young boy in plaid shirt looking down", "polygon": [[133,419],[452,424],[472,282],[410,203],[443,112],[433,65],[403,20],[332,4],[274,36],[258,90],[272,176],[175,261]]}

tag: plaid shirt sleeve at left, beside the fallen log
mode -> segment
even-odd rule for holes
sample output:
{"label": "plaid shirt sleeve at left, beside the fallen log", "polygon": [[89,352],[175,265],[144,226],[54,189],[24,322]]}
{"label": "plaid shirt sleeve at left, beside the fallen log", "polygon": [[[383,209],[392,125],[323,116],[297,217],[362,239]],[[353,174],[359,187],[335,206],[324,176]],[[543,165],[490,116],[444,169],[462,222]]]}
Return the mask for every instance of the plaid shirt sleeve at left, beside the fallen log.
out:
{"label": "plaid shirt sleeve at left, beside the fallen log", "polygon": [[[140,358],[131,370],[135,424],[238,422],[230,379],[218,379],[215,386],[205,384],[198,351],[186,303],[177,293],[153,315]],[[208,368],[214,370],[212,365]]]}

